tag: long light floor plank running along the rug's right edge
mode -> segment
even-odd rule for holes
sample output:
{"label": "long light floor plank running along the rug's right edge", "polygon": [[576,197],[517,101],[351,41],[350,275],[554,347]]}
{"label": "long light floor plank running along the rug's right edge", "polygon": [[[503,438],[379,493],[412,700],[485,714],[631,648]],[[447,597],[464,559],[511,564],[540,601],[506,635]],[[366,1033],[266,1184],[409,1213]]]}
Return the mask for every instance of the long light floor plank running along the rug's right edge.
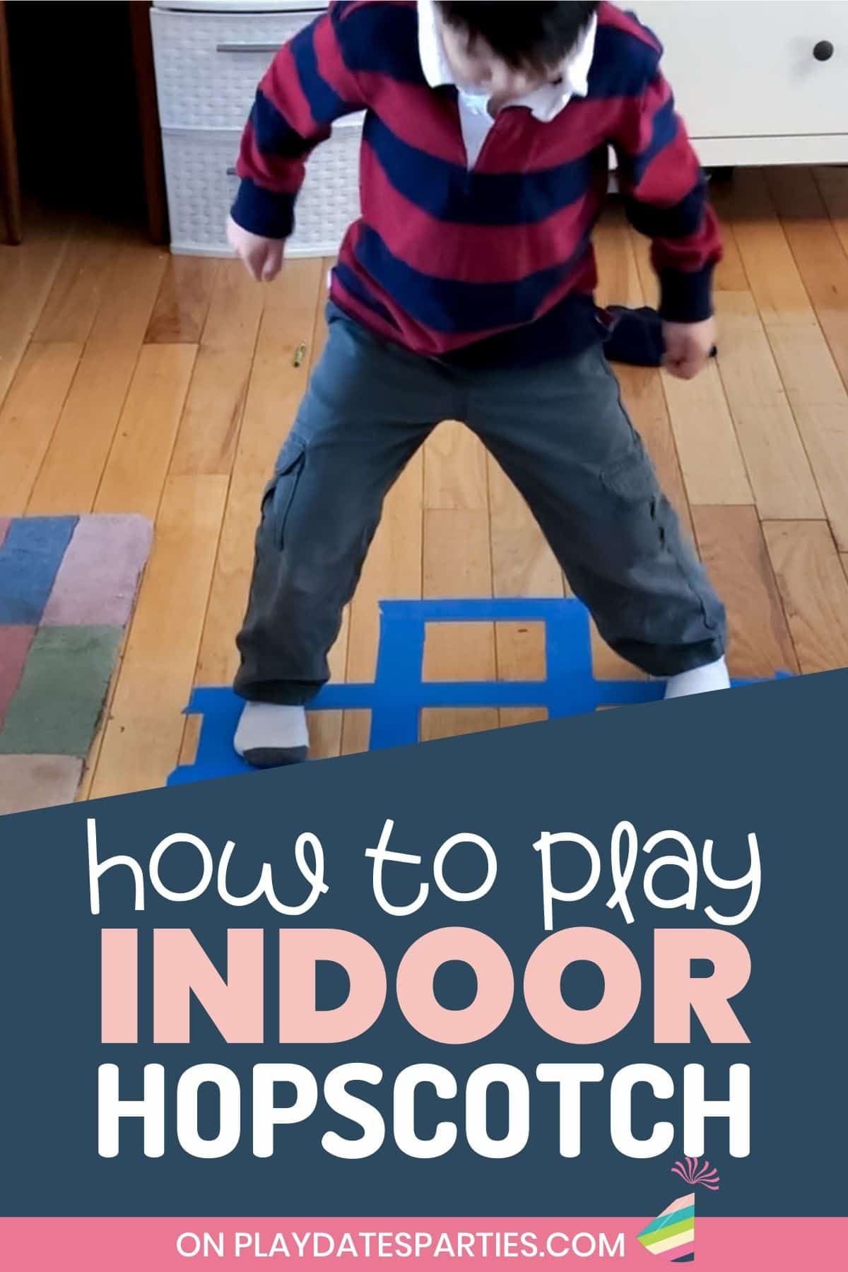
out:
{"label": "long light floor plank running along the rug's right edge", "polygon": [[167,482],[92,799],[163,786],[177,766],[225,500],[226,477]]}

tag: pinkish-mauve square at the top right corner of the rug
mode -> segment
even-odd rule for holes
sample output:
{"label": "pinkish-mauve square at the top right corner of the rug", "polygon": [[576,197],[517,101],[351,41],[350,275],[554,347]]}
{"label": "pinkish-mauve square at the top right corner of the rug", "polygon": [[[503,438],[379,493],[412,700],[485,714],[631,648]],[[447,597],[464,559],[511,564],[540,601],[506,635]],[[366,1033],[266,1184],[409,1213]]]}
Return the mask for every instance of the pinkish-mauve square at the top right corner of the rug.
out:
{"label": "pinkish-mauve square at the top right corner of the rug", "polygon": [[151,539],[153,527],[144,516],[80,516],[42,622],[123,627]]}

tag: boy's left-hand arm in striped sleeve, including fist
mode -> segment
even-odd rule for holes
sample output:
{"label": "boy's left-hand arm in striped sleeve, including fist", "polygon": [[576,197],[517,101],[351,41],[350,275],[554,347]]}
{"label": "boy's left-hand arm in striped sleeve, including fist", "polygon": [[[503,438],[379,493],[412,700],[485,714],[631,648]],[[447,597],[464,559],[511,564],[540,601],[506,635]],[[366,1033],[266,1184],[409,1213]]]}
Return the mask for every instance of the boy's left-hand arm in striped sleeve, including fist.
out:
{"label": "boy's left-hand arm in striped sleeve, including fist", "polygon": [[284,45],[257,90],[242,136],[235,169],[242,182],[228,223],[230,245],[254,279],[270,281],[280,272],[306,158],[329,136],[334,120],[366,106],[348,65],[356,61],[357,8],[332,4]]}

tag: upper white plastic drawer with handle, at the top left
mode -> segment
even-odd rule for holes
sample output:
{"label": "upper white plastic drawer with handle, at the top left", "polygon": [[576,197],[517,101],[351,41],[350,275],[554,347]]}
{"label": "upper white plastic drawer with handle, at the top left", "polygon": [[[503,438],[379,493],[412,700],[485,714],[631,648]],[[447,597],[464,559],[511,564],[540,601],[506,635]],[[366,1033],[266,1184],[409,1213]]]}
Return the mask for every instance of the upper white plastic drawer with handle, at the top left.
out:
{"label": "upper white plastic drawer with handle, at the top left", "polygon": [[242,128],[273,55],[320,9],[174,13],[153,9],[163,128]]}

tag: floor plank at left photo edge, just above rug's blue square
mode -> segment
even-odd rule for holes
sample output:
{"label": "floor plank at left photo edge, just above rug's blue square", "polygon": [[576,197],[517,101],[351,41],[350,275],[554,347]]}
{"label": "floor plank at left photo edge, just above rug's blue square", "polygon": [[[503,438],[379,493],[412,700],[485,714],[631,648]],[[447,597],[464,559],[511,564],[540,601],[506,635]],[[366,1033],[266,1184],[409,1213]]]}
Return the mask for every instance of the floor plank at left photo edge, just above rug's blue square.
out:
{"label": "floor plank at left photo edge, just above rug's blue square", "polygon": [[79,365],[79,343],[31,345],[0,408],[0,514],[27,508]]}

